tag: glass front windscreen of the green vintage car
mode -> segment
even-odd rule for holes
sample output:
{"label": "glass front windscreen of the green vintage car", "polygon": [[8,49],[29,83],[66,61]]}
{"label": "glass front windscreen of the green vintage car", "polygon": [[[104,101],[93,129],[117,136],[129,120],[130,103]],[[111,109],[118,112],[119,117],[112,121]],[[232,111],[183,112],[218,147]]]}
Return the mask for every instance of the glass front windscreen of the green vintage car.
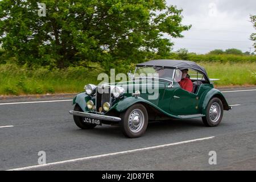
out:
{"label": "glass front windscreen of the green vintage car", "polygon": [[159,77],[172,80],[174,69],[164,67],[137,67],[134,77]]}

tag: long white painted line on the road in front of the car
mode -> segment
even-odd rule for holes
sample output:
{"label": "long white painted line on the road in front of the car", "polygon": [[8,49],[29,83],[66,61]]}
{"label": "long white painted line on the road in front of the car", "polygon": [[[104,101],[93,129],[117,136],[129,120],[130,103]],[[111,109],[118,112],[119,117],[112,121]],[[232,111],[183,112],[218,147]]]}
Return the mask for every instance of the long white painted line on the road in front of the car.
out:
{"label": "long white painted line on the road in front of the car", "polygon": [[135,150],[127,150],[127,151],[114,152],[114,153],[109,153],[109,154],[94,155],[94,156],[88,156],[88,157],[85,157],[85,158],[63,160],[63,161],[60,161],[60,162],[53,162],[53,163],[48,163],[48,164],[36,165],[36,166],[28,166],[28,167],[22,167],[22,168],[9,169],[7,171],[21,171],[21,170],[26,170],[26,169],[33,169],[33,168],[39,168],[39,167],[53,166],[53,165],[56,165],[56,164],[64,164],[64,163],[77,162],[77,161],[86,160],[86,159],[97,159],[97,158],[102,158],[102,157],[106,157],[106,156],[118,155],[118,154],[129,154],[131,152],[151,150],[151,149],[162,148],[162,147],[167,147],[167,146],[175,146],[177,144],[196,142],[196,141],[201,141],[201,140],[208,140],[208,139],[212,139],[212,138],[214,138],[214,137],[206,137],[206,138],[199,138],[199,139],[193,139],[193,140],[186,140],[186,141],[183,141],[183,142],[162,144],[162,145],[159,145],[159,146],[138,148],[138,149],[135,149]]}

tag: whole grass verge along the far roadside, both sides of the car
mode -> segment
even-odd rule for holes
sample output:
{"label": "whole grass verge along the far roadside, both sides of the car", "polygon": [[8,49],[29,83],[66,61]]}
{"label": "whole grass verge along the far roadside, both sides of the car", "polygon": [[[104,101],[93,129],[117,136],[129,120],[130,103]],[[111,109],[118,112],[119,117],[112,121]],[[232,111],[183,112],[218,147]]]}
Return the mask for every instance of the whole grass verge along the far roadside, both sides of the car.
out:
{"label": "whole grass verge along the far roadside, both sides of the car", "polygon": [[[215,86],[256,85],[256,63],[199,63]],[[99,68],[69,67],[64,70],[29,69],[13,64],[0,65],[0,94],[46,94],[81,92],[85,84],[97,84]],[[117,73],[116,73],[117,74]]]}

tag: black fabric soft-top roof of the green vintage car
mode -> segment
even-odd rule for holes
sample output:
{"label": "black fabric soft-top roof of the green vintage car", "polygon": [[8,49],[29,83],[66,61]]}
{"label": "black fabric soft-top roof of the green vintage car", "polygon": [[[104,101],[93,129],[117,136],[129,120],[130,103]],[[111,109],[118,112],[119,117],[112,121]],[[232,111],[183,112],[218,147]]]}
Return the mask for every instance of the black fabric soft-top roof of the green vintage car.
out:
{"label": "black fabric soft-top roof of the green vintage car", "polygon": [[177,68],[177,69],[191,68],[203,73],[205,77],[209,80],[207,76],[207,72],[205,71],[204,67],[201,67],[200,65],[196,64],[193,61],[161,59],[161,60],[151,60],[151,61],[137,64],[137,67],[143,67],[143,66],[169,67],[169,68]]}

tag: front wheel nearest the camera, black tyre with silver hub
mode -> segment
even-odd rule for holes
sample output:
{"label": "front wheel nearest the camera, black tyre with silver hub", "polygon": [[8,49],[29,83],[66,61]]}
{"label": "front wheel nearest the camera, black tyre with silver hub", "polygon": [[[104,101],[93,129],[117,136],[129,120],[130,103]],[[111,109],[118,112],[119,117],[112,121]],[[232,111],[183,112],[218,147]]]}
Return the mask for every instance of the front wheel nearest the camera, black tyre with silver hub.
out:
{"label": "front wheel nearest the camera, black tyre with silver hub", "polygon": [[129,138],[141,137],[147,129],[148,114],[142,104],[134,104],[121,114],[120,126]]}

